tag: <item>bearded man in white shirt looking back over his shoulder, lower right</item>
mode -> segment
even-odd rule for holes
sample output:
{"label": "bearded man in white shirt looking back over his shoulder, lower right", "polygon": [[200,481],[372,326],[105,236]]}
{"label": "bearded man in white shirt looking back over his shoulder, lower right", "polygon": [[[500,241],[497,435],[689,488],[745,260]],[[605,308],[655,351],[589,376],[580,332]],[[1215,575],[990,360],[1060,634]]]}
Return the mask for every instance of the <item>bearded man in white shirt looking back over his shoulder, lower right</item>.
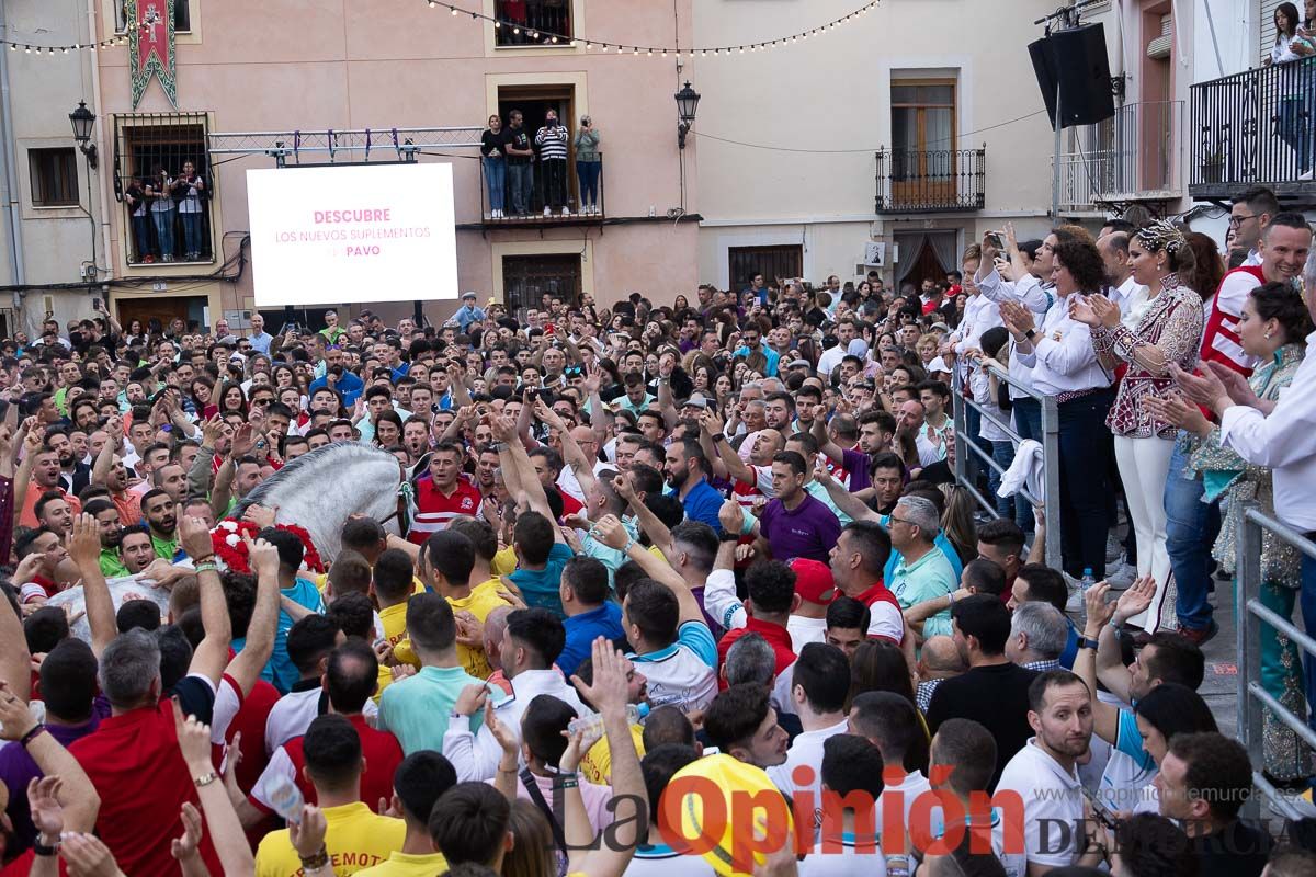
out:
{"label": "bearded man in white shirt looking back over his shoulder, lower right", "polygon": [[1005,765],[995,797],[1005,799],[1009,793],[1023,802],[1028,873],[1095,868],[1104,856],[1100,848],[1087,851],[1080,834],[1086,807],[1075,768],[1092,739],[1092,696],[1069,671],[1042,673],[1028,694],[1028,723],[1037,736]]}

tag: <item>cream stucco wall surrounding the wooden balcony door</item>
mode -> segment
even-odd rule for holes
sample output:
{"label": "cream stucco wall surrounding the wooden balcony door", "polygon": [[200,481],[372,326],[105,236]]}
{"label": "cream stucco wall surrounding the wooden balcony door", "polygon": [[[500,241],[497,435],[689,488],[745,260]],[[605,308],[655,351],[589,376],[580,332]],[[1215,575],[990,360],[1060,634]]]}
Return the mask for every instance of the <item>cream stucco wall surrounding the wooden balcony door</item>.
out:
{"label": "cream stucco wall surrounding the wooden balcony door", "polygon": [[[857,5],[700,4],[695,39],[771,38]],[[841,28],[787,47],[696,58],[690,76],[704,96],[696,130],[707,135],[696,138],[705,217],[700,276],[725,283],[726,246],[803,242],[809,279],[833,272],[849,277],[863,242],[890,241],[898,226],[955,229],[963,239],[1007,218],[1034,225],[1050,202],[1045,114],[970,131],[1042,108],[1026,43],[1041,36],[1030,22],[1054,7],[1054,0],[884,0]],[[874,150],[892,141],[891,82],[915,78],[957,79],[955,147],[986,143],[984,210],[908,222],[874,213]]]}

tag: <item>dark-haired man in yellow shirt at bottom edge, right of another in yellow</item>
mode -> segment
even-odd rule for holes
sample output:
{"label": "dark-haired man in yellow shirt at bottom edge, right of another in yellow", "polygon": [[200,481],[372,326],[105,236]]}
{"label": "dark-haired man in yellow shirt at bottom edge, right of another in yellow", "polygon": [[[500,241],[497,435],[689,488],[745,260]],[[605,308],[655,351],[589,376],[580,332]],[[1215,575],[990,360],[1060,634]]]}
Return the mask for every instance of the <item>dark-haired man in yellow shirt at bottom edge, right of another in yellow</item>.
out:
{"label": "dark-haired man in yellow shirt at bottom edge, right of another in yellow", "polygon": [[[378,567],[376,567],[378,568]],[[434,877],[447,870],[443,853],[434,849],[429,814],[434,802],[457,785],[447,759],[432,749],[412,752],[393,773],[393,811],[401,811],[407,840],[388,861],[357,872],[357,877]]]}

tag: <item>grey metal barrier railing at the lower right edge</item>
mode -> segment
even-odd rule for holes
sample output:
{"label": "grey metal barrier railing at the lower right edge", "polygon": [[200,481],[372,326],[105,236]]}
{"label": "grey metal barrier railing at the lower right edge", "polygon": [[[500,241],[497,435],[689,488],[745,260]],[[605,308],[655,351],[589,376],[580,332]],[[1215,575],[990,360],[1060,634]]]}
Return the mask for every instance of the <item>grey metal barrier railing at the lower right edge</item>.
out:
{"label": "grey metal barrier railing at the lower right edge", "polygon": [[[1316,731],[1292,710],[1280,703],[1261,684],[1261,623],[1283,634],[1302,650],[1303,663],[1316,659],[1316,639],[1312,639],[1294,626],[1294,622],[1265,606],[1259,600],[1261,542],[1262,531],[1282,542],[1287,542],[1308,557],[1316,559],[1316,543],[1279,521],[1262,514],[1255,502],[1244,506],[1242,533],[1238,536],[1237,565],[1238,582],[1234,593],[1234,606],[1238,619],[1238,739],[1248,747],[1248,756],[1254,767],[1252,780],[1255,788],[1266,795],[1271,807],[1286,819],[1300,819],[1311,815],[1294,806],[1288,797],[1265,777],[1257,765],[1265,765],[1265,743],[1262,724],[1265,711],[1288,726],[1298,736],[1316,748]],[[1259,802],[1249,799],[1248,805],[1255,817]]]}

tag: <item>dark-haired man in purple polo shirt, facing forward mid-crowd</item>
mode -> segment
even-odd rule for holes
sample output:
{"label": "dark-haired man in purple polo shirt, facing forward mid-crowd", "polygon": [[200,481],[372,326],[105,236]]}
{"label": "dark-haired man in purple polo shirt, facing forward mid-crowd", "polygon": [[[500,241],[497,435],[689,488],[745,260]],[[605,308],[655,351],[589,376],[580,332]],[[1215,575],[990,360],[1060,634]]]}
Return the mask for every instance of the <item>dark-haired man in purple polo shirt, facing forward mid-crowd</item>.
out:
{"label": "dark-haired man in purple polo shirt, facing forward mid-crowd", "polygon": [[826,504],[804,490],[809,479],[804,458],[795,451],[782,451],[772,458],[772,489],[776,498],[767,504],[754,525],[755,548],[774,560],[790,563],[808,557],[828,563],[841,535],[841,522]]}

